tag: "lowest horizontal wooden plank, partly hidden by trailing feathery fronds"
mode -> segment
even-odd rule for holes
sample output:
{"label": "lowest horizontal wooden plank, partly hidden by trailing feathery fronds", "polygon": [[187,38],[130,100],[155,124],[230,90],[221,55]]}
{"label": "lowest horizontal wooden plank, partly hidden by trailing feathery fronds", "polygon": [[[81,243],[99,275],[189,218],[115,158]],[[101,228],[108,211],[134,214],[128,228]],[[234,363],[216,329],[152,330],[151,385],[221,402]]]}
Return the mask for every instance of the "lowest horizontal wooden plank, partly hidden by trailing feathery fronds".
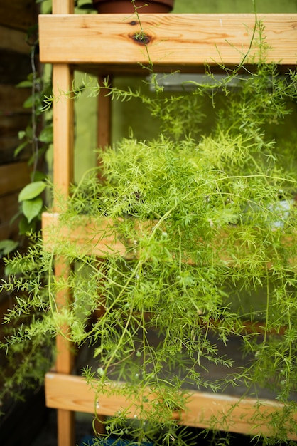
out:
{"label": "lowest horizontal wooden plank, partly hidden by trailing feathery fronds", "polygon": [[[108,386],[108,385],[107,385]],[[138,415],[135,401],[121,394],[121,383],[109,384],[110,390],[97,393],[79,376],[47,373],[45,398],[49,408],[73,410],[101,415],[114,415],[118,410],[128,409],[129,418]],[[146,396],[144,393],[143,396]],[[149,403],[148,403],[149,405]],[[269,415],[281,411],[284,405],[274,400],[236,398],[229,395],[191,392],[185,410],[173,413],[181,425],[192,427],[216,427],[217,429],[250,435],[273,435]],[[297,413],[294,415],[297,420]],[[214,425],[217,420],[217,425]],[[259,425],[257,425],[257,420]],[[267,421],[265,424],[264,420]],[[292,434],[297,440],[297,434]]]}

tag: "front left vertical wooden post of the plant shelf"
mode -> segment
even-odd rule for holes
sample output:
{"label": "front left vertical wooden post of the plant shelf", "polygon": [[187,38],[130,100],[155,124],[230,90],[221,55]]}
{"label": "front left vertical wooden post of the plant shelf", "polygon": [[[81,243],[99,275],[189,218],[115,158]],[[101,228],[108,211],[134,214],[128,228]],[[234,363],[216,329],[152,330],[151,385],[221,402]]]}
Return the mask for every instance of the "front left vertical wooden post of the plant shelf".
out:
{"label": "front left vertical wooden post of the plant shelf", "polygon": [[[53,0],[53,14],[72,14],[74,0]],[[68,64],[53,65],[53,182],[55,185],[55,209],[58,209],[58,195],[63,198],[69,194],[73,180],[73,101],[65,94],[72,88],[73,73]],[[56,259],[56,276],[65,276],[70,272],[70,265],[64,259]],[[58,308],[70,302],[68,289],[61,291],[56,298]],[[61,327],[67,335],[68,327]],[[72,352],[70,343],[62,336],[56,338],[56,371],[70,374],[72,372]],[[75,419],[70,410],[58,409],[58,446],[75,445]]]}

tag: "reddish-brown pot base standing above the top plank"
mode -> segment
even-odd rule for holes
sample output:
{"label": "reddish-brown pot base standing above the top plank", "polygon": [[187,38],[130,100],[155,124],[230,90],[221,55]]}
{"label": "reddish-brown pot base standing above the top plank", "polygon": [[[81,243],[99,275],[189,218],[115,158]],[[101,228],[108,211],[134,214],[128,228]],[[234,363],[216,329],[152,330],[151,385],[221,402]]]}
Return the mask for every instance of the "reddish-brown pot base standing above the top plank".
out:
{"label": "reddish-brown pot base standing above the top plank", "polygon": [[[134,6],[131,0],[93,0],[97,12],[100,14],[108,13],[134,13]],[[174,0],[136,0],[135,6],[139,8],[139,13],[162,13],[170,12],[173,9]]]}

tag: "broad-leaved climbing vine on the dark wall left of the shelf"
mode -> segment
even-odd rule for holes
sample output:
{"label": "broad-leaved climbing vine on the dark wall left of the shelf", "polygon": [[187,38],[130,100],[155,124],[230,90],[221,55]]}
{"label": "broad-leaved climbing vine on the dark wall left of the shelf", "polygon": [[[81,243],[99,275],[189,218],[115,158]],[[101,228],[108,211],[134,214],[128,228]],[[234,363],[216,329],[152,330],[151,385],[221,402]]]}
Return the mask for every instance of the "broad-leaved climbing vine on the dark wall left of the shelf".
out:
{"label": "broad-leaved climbing vine on the dark wall left of the shelf", "polygon": [[[44,76],[43,70],[36,67],[36,51],[38,49],[38,35],[36,27],[28,29],[27,43],[31,47],[32,72],[18,85],[18,88],[30,88],[31,93],[23,103],[24,109],[31,110],[31,118],[26,126],[18,132],[20,144],[16,147],[14,156],[18,157],[27,147],[31,148],[28,166],[31,170],[31,181],[23,187],[19,196],[19,211],[13,219],[19,219],[19,235],[26,239],[30,231],[36,232],[41,226],[41,214],[45,209],[44,190],[46,187],[45,153],[53,142],[53,125],[50,115],[45,118],[42,113],[43,100],[51,91],[50,76]],[[0,256],[7,255],[18,247],[19,241],[1,240]]]}

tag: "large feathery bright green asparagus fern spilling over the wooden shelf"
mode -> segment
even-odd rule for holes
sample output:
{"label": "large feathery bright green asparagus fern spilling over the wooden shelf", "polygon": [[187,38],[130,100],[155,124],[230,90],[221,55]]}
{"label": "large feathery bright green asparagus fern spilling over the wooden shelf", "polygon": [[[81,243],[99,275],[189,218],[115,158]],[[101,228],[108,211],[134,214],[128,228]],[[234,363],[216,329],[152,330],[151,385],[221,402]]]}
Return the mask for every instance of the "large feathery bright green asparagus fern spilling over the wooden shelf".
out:
{"label": "large feathery bright green asparagus fern spilling over the wooden shelf", "polygon": [[[60,197],[63,211],[45,243],[6,260],[3,289],[26,297],[18,296],[5,319],[21,326],[2,347],[38,346],[45,333],[93,346],[95,366],[85,367],[85,378],[98,393],[117,391],[136,405],[128,432],[137,444],[188,444],[178,414],[193,386],[217,392],[244,385],[256,396],[255,385],[272,388],[284,409],[265,420],[271,438],[263,443],[288,442],[296,431],[296,149],[289,135],[276,140],[274,127],[295,106],[297,76],[280,77],[263,58],[255,68],[239,90],[229,88],[239,69],[222,83],[169,98],[161,88],[156,98],[110,88],[116,99],[141,98],[163,132],[101,150],[99,168],[73,185],[66,202]],[[202,124],[203,101],[214,98],[223,107],[212,129],[191,132],[193,122]],[[99,232],[89,232],[85,244],[68,237],[86,224]],[[53,275],[55,257],[74,265],[68,278]],[[58,308],[63,289],[72,302]],[[244,293],[255,294],[256,304],[244,305]],[[94,311],[102,313],[96,321]],[[242,369],[220,354],[218,344],[230,338],[253,359]],[[212,380],[205,373],[212,365],[229,373]],[[113,387],[114,377],[125,384]],[[107,435],[124,436],[132,413],[127,407],[107,419]],[[255,417],[255,426],[261,422]]]}

